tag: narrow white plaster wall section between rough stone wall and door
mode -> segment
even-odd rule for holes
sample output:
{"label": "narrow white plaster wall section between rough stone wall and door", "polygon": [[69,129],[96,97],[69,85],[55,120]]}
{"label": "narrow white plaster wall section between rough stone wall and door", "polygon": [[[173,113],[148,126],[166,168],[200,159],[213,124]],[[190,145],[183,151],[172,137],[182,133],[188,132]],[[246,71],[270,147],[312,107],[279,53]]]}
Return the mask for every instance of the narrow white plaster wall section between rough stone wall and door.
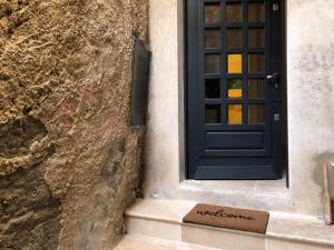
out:
{"label": "narrow white plaster wall section between rough stone wall and door", "polygon": [[178,186],[179,176],[179,54],[177,0],[149,1],[153,52],[145,184],[151,196],[165,197],[164,187]]}

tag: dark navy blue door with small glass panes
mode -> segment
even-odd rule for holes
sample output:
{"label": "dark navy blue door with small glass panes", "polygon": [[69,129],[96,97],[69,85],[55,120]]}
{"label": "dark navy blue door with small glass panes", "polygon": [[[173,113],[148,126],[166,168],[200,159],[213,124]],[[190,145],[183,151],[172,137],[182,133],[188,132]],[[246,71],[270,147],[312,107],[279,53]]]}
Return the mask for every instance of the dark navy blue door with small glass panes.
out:
{"label": "dark navy blue door with small glass panes", "polygon": [[187,177],[281,177],[279,4],[187,0]]}

